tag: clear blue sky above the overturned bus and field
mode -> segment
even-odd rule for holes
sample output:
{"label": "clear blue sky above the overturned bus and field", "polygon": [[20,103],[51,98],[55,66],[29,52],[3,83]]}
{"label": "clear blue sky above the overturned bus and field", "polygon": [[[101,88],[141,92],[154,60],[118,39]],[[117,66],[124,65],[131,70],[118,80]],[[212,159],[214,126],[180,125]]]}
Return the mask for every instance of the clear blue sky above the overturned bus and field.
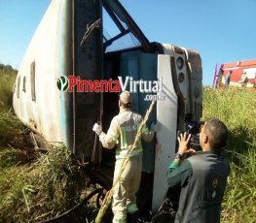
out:
{"label": "clear blue sky above the overturned bus and field", "polygon": [[[0,0],[0,63],[18,69],[51,0]],[[150,42],[201,54],[202,83],[215,66],[256,58],[256,0],[121,0]]]}

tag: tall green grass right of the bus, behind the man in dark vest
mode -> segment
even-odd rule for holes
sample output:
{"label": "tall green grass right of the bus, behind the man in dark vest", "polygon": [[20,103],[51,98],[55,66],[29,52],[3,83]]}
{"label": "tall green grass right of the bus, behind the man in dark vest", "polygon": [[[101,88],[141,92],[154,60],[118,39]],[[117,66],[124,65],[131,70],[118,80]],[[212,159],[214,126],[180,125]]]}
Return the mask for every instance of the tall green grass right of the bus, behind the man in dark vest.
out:
{"label": "tall green grass right of the bus, behind the man in dark vest", "polygon": [[218,117],[230,130],[227,157],[231,173],[222,222],[255,222],[256,89],[203,89],[202,118]]}

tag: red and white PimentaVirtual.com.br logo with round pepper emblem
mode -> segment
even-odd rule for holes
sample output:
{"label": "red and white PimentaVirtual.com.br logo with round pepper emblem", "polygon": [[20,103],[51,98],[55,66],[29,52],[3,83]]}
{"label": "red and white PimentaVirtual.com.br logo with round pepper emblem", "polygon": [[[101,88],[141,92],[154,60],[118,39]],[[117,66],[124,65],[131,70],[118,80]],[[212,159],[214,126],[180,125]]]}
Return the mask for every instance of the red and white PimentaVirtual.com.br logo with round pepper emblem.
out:
{"label": "red and white PimentaVirtual.com.br logo with round pepper emblem", "polygon": [[163,101],[163,78],[159,80],[133,80],[132,77],[121,76],[118,80],[81,80],[76,76],[60,76],[56,82],[60,91],[68,92],[115,92],[119,93],[128,90],[130,93],[145,94],[145,101]]}

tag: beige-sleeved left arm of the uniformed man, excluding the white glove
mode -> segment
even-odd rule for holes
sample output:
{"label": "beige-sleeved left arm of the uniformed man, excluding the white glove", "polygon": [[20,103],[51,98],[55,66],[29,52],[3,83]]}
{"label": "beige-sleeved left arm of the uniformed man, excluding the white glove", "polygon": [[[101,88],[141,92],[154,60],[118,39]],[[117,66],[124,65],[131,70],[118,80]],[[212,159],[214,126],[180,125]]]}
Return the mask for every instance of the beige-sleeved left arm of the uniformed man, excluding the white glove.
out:
{"label": "beige-sleeved left arm of the uniformed man, excluding the white glove", "polygon": [[113,148],[119,139],[119,127],[115,118],[112,119],[107,134],[101,132],[99,134],[99,141],[105,148]]}

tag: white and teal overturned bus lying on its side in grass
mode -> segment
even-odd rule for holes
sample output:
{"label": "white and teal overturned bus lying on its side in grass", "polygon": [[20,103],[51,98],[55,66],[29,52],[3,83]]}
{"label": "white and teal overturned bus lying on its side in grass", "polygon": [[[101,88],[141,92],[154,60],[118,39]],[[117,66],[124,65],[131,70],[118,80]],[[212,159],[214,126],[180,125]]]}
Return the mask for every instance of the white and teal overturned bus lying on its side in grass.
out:
{"label": "white and teal overturned bus lying on its side in grass", "polygon": [[[108,29],[115,30],[113,36]],[[21,62],[14,109],[35,136],[64,143],[90,164],[91,180],[109,189],[115,149],[101,147],[92,125],[101,121],[107,131],[119,112],[118,91],[132,91],[130,82],[159,84],[156,91],[132,91],[132,110],[144,115],[151,100],[157,100],[148,124],[162,124],[157,138],[143,144],[138,194],[138,207],[154,213],[165,200],[165,173],[177,131],[185,131],[187,116],[190,121],[201,118],[201,79],[197,51],[149,42],[118,0],[55,0]],[[98,87],[103,80],[112,81],[108,90]]]}

